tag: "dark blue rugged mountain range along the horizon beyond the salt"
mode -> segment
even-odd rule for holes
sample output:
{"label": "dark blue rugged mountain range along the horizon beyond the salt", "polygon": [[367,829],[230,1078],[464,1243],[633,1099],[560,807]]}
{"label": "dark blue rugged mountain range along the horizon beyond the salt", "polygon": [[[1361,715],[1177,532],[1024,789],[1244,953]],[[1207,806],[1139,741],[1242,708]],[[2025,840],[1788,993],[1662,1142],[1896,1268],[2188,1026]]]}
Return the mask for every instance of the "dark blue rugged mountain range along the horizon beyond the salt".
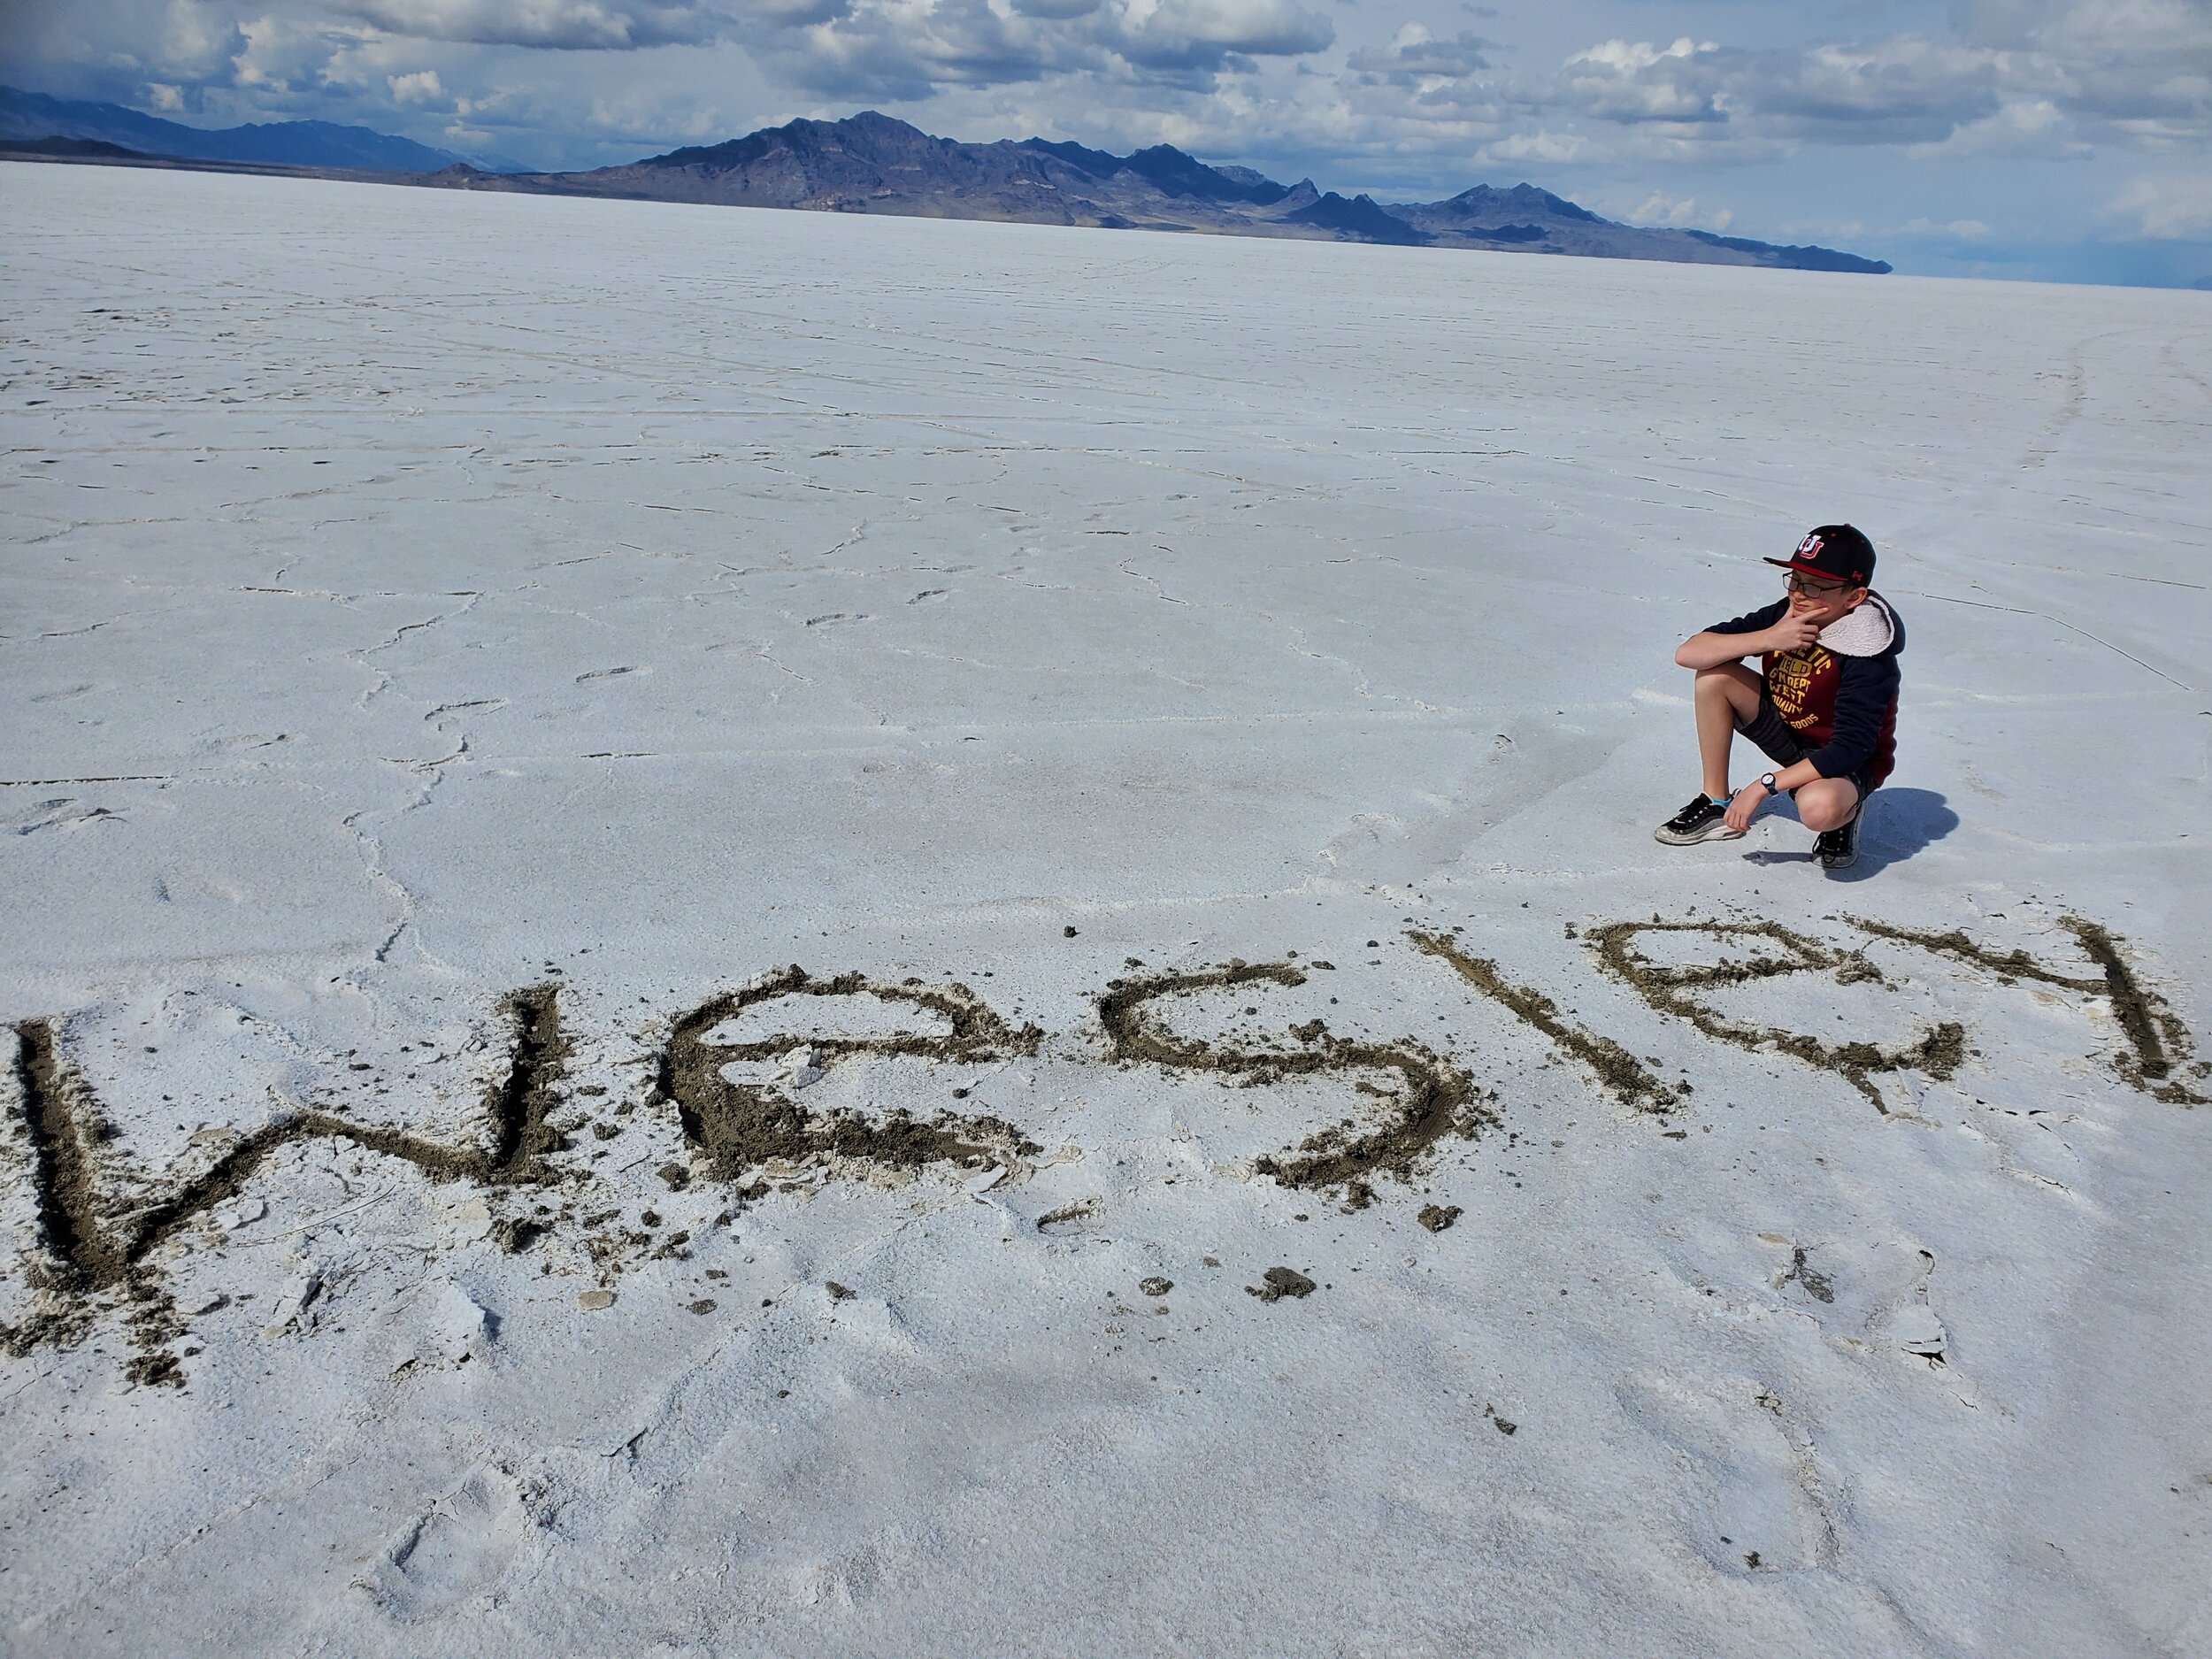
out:
{"label": "dark blue rugged mountain range along the horizon beyond the salt", "polygon": [[[199,159],[250,168],[380,173],[449,190],[518,190],[812,212],[1183,230],[1369,241],[1407,248],[1666,259],[1699,265],[1869,272],[1885,261],[1710,230],[1655,230],[1517,184],[1444,201],[1343,197],[1312,179],[1279,184],[1208,166],[1170,144],[1133,155],[1046,139],[962,144],[874,111],[787,122],[726,144],[686,146],[582,173],[491,170],[361,126],[279,122],[204,131],[117,104],[64,104],[0,88],[0,150],[80,161]],[[122,150],[122,155],[111,153]]]}

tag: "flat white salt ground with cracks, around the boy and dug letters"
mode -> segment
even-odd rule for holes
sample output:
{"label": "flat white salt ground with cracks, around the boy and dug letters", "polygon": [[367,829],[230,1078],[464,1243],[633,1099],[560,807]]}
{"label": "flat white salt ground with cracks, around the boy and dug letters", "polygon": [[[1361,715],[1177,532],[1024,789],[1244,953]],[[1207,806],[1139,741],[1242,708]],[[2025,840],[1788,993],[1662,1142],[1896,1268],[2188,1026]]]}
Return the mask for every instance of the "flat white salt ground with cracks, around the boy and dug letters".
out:
{"label": "flat white salt ground with cracks, around the boy and dug letters", "polygon": [[[4,1360],[11,1648],[2203,1646],[2208,1119],[2126,1073],[2064,925],[2203,1035],[2197,296],[0,197],[0,1013],[97,1097],[102,1192],[301,1106],[491,1159],[502,1000],[560,984],[573,1044],[560,1181],[299,1137],[161,1245],[173,1329]],[[1785,814],[1655,847],[1670,646],[1832,515],[1911,628],[1867,856],[1825,883]],[[1710,1040],[1593,956],[1661,960],[1655,914],[1880,967],[1710,1020],[1949,1020],[1955,1073],[1882,1073],[1885,1117]],[[1411,933],[1690,1091],[1637,1110]],[[1378,1102],[1117,1066],[1099,1022],[1230,958],[1305,982],[1177,1042],[1323,1018],[1500,1124],[1354,1214],[1259,1175]],[[838,1055],[785,998],[750,1082],[1053,1161],[739,1199],[653,1077],[794,962],[964,984],[1037,1053]],[[13,1325],[20,1177],[0,1221]],[[1245,1296],[1270,1267],[1316,1287]]]}

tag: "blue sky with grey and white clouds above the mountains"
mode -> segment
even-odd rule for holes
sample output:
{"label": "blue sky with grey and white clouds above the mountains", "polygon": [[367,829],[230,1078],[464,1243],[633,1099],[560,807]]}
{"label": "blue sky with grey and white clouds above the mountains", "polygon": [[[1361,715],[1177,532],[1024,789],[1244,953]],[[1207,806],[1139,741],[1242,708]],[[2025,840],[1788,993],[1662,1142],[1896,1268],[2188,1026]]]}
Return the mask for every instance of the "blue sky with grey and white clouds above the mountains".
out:
{"label": "blue sky with grey and white clouds above the mountains", "polygon": [[860,108],[1902,270],[2212,279],[2212,0],[0,0],[0,75],[542,168]]}

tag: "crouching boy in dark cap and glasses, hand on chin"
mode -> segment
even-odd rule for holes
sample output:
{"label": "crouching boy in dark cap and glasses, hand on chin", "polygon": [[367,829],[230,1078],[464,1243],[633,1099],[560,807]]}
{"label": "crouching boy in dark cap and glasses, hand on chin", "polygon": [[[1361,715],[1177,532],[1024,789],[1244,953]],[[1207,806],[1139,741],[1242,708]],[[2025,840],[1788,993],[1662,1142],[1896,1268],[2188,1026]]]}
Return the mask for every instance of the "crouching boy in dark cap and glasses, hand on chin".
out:
{"label": "crouching boy in dark cap and glasses, hand on chin", "polygon": [[[1674,661],[1697,670],[1697,752],[1705,792],[1652,832],[1670,847],[1734,841],[1774,794],[1796,796],[1827,869],[1858,860],[1858,816],[1898,754],[1898,653],[1905,624],[1874,580],[1874,544],[1823,524],[1787,560],[1774,604],[1690,635]],[[1743,666],[1759,655],[1761,672]],[[1728,787],[1728,750],[1743,732],[1774,772]]]}

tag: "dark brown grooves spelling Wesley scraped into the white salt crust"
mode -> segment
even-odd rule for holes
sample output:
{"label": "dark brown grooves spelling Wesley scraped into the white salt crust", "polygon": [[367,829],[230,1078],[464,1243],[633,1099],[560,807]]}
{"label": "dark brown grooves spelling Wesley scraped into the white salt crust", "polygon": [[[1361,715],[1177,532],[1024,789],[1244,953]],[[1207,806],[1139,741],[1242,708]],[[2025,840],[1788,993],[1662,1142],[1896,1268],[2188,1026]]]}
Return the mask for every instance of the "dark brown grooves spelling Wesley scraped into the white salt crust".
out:
{"label": "dark brown grooves spelling Wesley scraped into the white salt crust", "polygon": [[[2115,1004],[2132,1051],[2112,1057],[2119,1075],[2163,1102],[2190,1106],[2205,1099],[2174,1075],[2192,1055],[2188,1029],[2154,991],[2141,987],[2121,956],[2119,940],[2104,927],[2079,916],[2062,920],[2084,953],[2104,969],[2099,978],[2086,978],[2037,962],[2022,949],[1991,951],[1962,931],[1922,933],[1863,918],[1847,920],[1876,938],[1993,971],[2002,984],[2033,978],[2084,995],[2104,995]],[[1648,931],[1705,933],[1723,940],[1767,938],[1783,945],[1787,956],[1661,967],[1630,945]],[[1568,1024],[1546,995],[1504,980],[1493,962],[1464,953],[1442,933],[1416,931],[1407,933],[1407,940],[1418,951],[1449,962],[1482,995],[1537,1029],[1562,1053],[1590,1066],[1599,1084],[1621,1104],[1650,1113],[1666,1113],[1679,1104],[1679,1095],[1661,1086],[1619,1044]],[[1595,949],[1597,962],[1635,987],[1652,1009],[1686,1020],[1719,1042],[1754,1053],[1776,1051],[1807,1066],[1836,1071],[1885,1113],[1887,1106],[1874,1091],[1869,1073],[1922,1071],[1942,1079],[1958,1068],[1964,1055],[1966,1033],[1958,1022],[1933,1026],[1913,1046],[1885,1051],[1865,1042],[1823,1044],[1805,1033],[1725,1020],[1697,1002],[1692,995],[1697,989],[1814,969],[1832,969],[1840,982],[1874,980],[1887,984],[1880,969],[1863,953],[1834,951],[1781,922],[1610,922],[1590,929],[1586,940]],[[1301,1048],[1241,1051],[1212,1046],[1199,1037],[1177,1037],[1144,1018],[1146,1004],[1159,998],[1212,987],[1298,987],[1305,980],[1305,971],[1292,964],[1248,964],[1241,960],[1194,973],[1113,980],[1097,1000],[1099,1022],[1113,1044],[1115,1060],[1159,1064],[1172,1071],[1214,1071],[1237,1077],[1243,1086],[1263,1086],[1290,1075],[1398,1071],[1405,1079],[1405,1091],[1398,1095],[1365,1082],[1358,1084],[1360,1093],[1389,1102],[1394,1108],[1380,1128],[1363,1133],[1354,1119],[1345,1119],[1305,1137],[1292,1152],[1263,1155],[1254,1161],[1256,1172],[1270,1175],[1281,1186],[1340,1190],[1347,1210],[1360,1210],[1374,1201],[1369,1177],[1409,1179],[1420,1157],[1447,1133],[1473,1137],[1484,1126],[1500,1121],[1498,1110],[1475,1093],[1473,1079],[1462,1068],[1440,1060],[1411,1037],[1387,1044],[1356,1042],[1329,1033],[1321,1020],[1310,1020],[1290,1029]],[[922,1124],[900,1110],[883,1124],[874,1124],[858,1113],[810,1113],[772,1086],[726,1079],[721,1066],[787,1053],[801,1037],[779,1033],[757,1042],[712,1044],[706,1042],[708,1033],[743,1009],[790,995],[874,995],[909,1002],[947,1018],[951,1024],[947,1035],[896,1033],[889,1037],[814,1040],[810,1046],[830,1057],[832,1064],[867,1053],[995,1060],[1004,1053],[1035,1053],[1044,1035],[1035,1024],[1020,1031],[1006,1026],[964,984],[922,987],[920,980],[885,984],[860,973],[814,978],[796,964],[763,975],[743,991],[710,998],[672,1029],[653,1097],[677,1106],[686,1141],[710,1159],[717,1177],[734,1181],[770,1159],[818,1161],[832,1168],[856,1161],[898,1170],[936,1161],[958,1161],[973,1168],[993,1159],[1018,1166],[1024,1155],[1037,1150],[1013,1124],[995,1117],[942,1113],[931,1124]],[[453,1148],[405,1130],[354,1124],[307,1108],[246,1135],[206,1172],[179,1186],[170,1197],[142,1208],[115,1230],[104,1219],[106,1208],[97,1192],[97,1148],[111,1137],[97,1097],[62,1060],[55,1022],[20,1022],[15,1026],[15,1082],[31,1150],[31,1190],[40,1234],[27,1281],[44,1307],[22,1325],[0,1325],[0,1347],[22,1356],[38,1345],[73,1343],[97,1314],[97,1296],[119,1292],[133,1303],[128,1318],[139,1347],[128,1374],[144,1383],[179,1383],[181,1371],[175,1356],[161,1352],[161,1343],[177,1334],[177,1323],[153,1252],[177,1239],[188,1221],[232,1197],[276,1148],[299,1139],[349,1139],[365,1150],[398,1157],[434,1181],[462,1179],[487,1188],[511,1188],[553,1179],[591,1179],[588,1170],[557,1170],[549,1164],[553,1152],[566,1148],[562,1135],[546,1121],[553,1088],[568,1055],[568,1042],[560,1029],[557,987],[540,984],[518,991],[507,998],[502,1011],[515,1020],[515,1048],[504,1082],[487,1095],[493,1130],[489,1148]],[[2203,1075],[2208,1066],[2194,1064],[2192,1071]],[[672,1186],[688,1183],[688,1170],[670,1168],[681,1175],[681,1181],[670,1179]],[[666,1175],[670,1170],[664,1170]],[[765,1190],[765,1181],[754,1181],[737,1197],[759,1199]],[[535,1223],[504,1228],[500,1232],[502,1248],[526,1248],[533,1230]]]}

